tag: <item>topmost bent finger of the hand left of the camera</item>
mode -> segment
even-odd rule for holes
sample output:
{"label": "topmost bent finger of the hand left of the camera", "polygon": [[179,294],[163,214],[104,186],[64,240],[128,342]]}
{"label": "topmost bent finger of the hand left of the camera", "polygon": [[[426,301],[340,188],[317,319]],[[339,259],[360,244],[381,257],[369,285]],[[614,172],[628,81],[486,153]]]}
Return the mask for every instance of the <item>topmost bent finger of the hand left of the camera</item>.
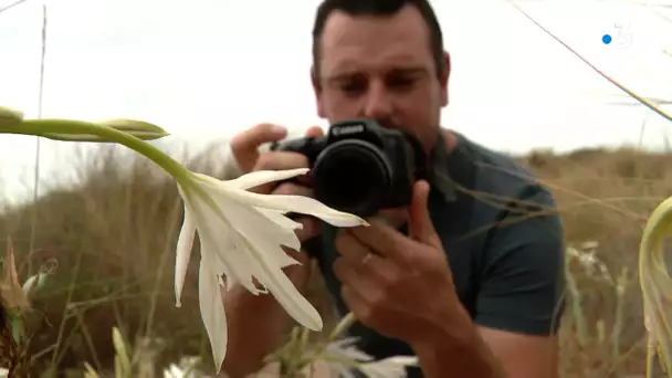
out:
{"label": "topmost bent finger of the hand left of the camera", "polygon": [[259,124],[231,138],[231,151],[244,171],[252,170],[259,157],[259,146],[287,136],[287,129],[275,124]]}

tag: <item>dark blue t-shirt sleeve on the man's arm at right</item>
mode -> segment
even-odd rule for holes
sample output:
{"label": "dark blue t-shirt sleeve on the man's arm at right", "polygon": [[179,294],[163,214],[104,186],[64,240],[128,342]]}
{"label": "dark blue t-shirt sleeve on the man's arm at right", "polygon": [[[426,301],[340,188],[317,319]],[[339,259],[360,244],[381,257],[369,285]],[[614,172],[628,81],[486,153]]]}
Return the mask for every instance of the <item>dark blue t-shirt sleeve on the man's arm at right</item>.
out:
{"label": "dark blue t-shirt sleeve on the man's arm at right", "polygon": [[[564,312],[561,220],[552,195],[542,188],[532,188],[521,200],[539,207],[510,211],[493,232],[483,255],[475,323],[528,335],[555,334]],[[539,208],[550,211],[538,213]]]}

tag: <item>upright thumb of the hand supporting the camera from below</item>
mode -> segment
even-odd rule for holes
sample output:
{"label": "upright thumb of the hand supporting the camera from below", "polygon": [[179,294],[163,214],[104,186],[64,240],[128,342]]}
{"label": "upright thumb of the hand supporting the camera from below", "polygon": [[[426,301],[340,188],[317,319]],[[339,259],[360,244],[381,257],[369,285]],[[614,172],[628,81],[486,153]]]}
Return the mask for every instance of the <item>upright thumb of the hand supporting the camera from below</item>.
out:
{"label": "upright thumb of the hand supporting the camera from below", "polygon": [[429,183],[424,180],[413,185],[413,197],[409,211],[408,231],[411,239],[432,246],[440,248],[441,240],[437,235],[432,220],[429,217],[428,198]]}

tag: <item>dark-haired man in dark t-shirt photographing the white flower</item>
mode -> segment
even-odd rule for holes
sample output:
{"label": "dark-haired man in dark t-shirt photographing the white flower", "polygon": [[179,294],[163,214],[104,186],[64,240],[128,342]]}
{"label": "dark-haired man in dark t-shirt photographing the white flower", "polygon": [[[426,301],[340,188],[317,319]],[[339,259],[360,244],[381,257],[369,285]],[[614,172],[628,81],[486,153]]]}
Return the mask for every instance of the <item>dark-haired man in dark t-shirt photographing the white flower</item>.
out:
{"label": "dark-haired man in dark t-shirt photographing the white flower", "polygon": [[[432,157],[432,176],[417,182],[408,209],[381,213],[387,224],[334,230],[302,220],[304,250],[292,253],[304,264],[287,275],[305,290],[311,249],[340,315],[359,321],[359,347],[377,358],[417,355],[421,371],[410,377],[556,377],[564,250],[554,200],[510,158],[439,126],[451,66],[430,4],[324,0],[313,36],[318,115],[411,132]],[[258,125],[235,136],[241,169],[307,167],[298,154],[258,151],[285,135]],[[256,190],[312,196],[308,179]],[[223,369],[244,377],[291,323],[272,296],[243,288],[224,305]]]}

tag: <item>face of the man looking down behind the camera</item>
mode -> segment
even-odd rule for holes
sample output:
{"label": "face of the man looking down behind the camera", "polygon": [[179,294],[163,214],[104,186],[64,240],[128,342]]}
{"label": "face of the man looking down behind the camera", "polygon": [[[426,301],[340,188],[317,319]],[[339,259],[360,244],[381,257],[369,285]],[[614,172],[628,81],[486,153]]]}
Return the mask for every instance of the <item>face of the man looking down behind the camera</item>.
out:
{"label": "face of the man looking down behind the camera", "polygon": [[[450,67],[448,54],[447,66]],[[434,143],[448,104],[448,71],[437,77],[429,28],[407,6],[392,17],[351,17],[335,11],[321,46],[318,115],[329,123],[368,117]]]}

